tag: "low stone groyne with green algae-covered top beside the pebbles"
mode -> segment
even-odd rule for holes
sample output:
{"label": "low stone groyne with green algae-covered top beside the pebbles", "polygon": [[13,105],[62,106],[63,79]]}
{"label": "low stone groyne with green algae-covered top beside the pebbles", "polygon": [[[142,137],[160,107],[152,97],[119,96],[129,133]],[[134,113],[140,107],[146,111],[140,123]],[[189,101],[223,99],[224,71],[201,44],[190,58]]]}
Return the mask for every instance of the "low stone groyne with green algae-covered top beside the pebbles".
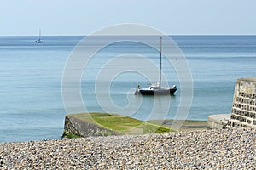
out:
{"label": "low stone groyne with green algae-covered top beside the pebbles", "polygon": [[153,122],[143,122],[128,116],[110,113],[79,113],[66,116],[65,135],[87,137],[124,134],[146,134],[172,132]]}

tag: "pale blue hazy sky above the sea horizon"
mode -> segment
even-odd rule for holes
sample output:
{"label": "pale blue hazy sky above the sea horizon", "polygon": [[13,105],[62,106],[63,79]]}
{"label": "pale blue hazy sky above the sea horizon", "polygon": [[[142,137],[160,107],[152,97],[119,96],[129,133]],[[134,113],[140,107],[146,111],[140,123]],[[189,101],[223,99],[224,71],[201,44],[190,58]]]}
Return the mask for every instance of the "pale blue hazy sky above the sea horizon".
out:
{"label": "pale blue hazy sky above the sea horizon", "polygon": [[0,36],[88,35],[137,23],[170,35],[255,34],[255,0],[2,0]]}

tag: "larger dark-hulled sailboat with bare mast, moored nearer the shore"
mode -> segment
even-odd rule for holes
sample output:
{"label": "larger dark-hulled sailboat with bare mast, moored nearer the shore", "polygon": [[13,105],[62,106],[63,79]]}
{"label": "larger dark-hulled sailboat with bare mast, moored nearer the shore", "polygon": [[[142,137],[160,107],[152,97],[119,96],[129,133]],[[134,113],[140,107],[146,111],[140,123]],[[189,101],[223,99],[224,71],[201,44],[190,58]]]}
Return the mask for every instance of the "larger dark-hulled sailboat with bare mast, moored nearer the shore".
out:
{"label": "larger dark-hulled sailboat with bare mast, moored nearer the shore", "polygon": [[148,88],[141,88],[140,85],[137,85],[137,89],[135,94],[142,95],[167,95],[174,94],[177,91],[176,85],[173,85],[171,88],[164,88],[161,86],[161,78],[162,78],[162,37],[160,37],[160,77],[159,82],[156,84],[150,85]]}

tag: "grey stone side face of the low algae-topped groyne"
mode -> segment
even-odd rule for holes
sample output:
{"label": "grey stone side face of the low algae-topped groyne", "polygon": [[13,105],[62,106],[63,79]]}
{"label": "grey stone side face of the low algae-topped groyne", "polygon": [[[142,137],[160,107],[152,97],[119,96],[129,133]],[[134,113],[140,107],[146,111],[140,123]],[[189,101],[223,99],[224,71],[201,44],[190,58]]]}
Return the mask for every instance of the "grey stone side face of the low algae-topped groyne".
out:
{"label": "grey stone side face of the low algae-topped groyne", "polygon": [[98,125],[96,122],[84,121],[72,115],[66,116],[64,131],[66,135],[75,134],[82,137],[118,134],[113,130],[109,130],[108,128]]}

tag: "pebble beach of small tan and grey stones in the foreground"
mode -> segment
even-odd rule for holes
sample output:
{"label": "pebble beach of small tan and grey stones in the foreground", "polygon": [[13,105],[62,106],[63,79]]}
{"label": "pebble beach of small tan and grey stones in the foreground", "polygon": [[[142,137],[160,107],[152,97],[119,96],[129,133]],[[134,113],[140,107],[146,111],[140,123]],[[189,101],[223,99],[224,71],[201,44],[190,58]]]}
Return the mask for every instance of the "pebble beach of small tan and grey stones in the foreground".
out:
{"label": "pebble beach of small tan and grey stones in the foreground", "polygon": [[0,144],[1,169],[256,169],[256,129]]}

